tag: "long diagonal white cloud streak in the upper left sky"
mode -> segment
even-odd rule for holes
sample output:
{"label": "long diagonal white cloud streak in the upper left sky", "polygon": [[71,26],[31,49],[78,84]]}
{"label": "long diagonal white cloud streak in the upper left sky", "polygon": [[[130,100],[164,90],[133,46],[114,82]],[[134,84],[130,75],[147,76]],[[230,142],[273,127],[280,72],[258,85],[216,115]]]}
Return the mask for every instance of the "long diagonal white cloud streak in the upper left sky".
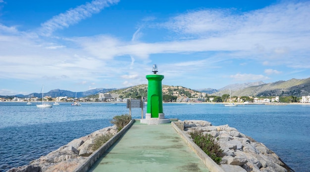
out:
{"label": "long diagonal white cloud streak in the upper left sky", "polygon": [[50,36],[57,29],[67,28],[79,21],[99,13],[104,7],[116,4],[119,0],[93,0],[76,8],[69,9],[65,13],[54,16],[52,19],[41,24],[41,34]]}

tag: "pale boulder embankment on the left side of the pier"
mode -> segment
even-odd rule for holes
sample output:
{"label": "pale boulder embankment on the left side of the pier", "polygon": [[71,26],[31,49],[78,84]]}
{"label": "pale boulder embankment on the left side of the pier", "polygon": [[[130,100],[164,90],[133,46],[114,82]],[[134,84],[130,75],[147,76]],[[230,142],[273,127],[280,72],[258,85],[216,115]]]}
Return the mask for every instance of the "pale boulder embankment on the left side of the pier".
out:
{"label": "pale boulder embankment on the left side of the pier", "polygon": [[94,144],[95,138],[108,133],[115,135],[117,127],[115,125],[106,127],[74,139],[48,155],[31,161],[29,165],[13,168],[8,172],[74,172],[94,152],[91,146]]}

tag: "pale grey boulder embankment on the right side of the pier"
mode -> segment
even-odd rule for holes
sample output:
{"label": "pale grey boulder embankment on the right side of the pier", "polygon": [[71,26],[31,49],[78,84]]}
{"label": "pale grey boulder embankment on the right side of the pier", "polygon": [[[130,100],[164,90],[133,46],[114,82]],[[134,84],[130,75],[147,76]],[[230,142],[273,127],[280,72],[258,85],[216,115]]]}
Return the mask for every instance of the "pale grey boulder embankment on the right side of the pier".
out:
{"label": "pale grey boulder embankment on the right side of the pier", "polygon": [[265,145],[228,125],[212,126],[207,121],[184,121],[184,132],[188,137],[195,130],[210,134],[218,141],[224,154],[220,164],[225,172],[294,172]]}

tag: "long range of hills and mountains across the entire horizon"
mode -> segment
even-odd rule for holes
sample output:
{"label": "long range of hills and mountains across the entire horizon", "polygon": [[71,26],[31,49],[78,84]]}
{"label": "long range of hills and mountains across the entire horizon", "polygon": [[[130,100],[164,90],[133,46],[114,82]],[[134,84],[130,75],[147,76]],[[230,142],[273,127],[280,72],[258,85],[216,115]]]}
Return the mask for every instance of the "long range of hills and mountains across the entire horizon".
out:
{"label": "long range of hills and mountains across the entire horizon", "polygon": [[[168,86],[171,88],[165,87],[166,90],[173,90],[176,89],[176,86]],[[178,86],[177,92],[184,92],[184,91],[194,91],[194,92],[206,92],[210,95],[221,96],[223,94],[229,94],[229,89],[231,90],[231,95],[234,96],[307,96],[310,95],[310,78],[307,79],[291,79],[288,81],[278,81],[274,83],[263,83],[263,82],[254,82],[254,83],[244,83],[244,84],[232,84],[228,86],[224,86],[219,89],[214,88],[206,88],[206,89],[190,89],[185,88],[182,86]],[[95,95],[98,93],[119,93],[123,92],[124,97],[128,95],[140,95],[147,94],[147,85],[139,85],[139,86],[132,86],[128,88],[116,89],[116,88],[96,88],[91,89],[88,91],[81,91],[81,92],[72,92],[68,90],[61,90],[61,89],[53,89],[47,93],[44,93],[45,96],[67,96],[67,97],[86,97],[90,95]],[[174,91],[175,92],[175,91]],[[163,92],[164,93],[164,92]],[[169,93],[169,92],[167,92]],[[41,93],[31,93],[28,95],[18,94],[13,95],[15,97],[20,98],[28,98],[28,97],[40,97]],[[181,94],[180,94],[181,95]],[[13,97],[13,96],[3,96],[0,95],[1,98]]]}

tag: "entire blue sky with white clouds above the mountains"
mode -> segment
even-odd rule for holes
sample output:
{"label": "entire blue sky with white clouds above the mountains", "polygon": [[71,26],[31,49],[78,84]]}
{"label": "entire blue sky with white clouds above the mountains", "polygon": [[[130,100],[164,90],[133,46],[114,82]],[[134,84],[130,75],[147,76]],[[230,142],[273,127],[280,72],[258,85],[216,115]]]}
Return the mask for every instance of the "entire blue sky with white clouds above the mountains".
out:
{"label": "entire blue sky with white clouds above the mountains", "polygon": [[309,0],[0,0],[0,95],[310,77]]}

